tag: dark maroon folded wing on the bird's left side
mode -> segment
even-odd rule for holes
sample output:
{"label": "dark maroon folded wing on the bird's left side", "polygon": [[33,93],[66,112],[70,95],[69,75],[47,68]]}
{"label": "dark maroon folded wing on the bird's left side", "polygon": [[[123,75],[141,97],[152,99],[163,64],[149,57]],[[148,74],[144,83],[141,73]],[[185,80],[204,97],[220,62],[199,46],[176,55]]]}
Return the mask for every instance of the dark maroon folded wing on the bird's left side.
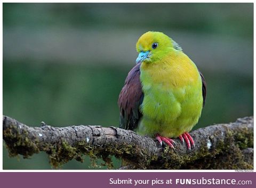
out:
{"label": "dark maroon folded wing on the bird's left side", "polygon": [[128,73],[124,87],[119,94],[120,128],[133,130],[138,126],[142,116],[139,107],[143,101],[143,96],[140,82],[140,63],[138,63]]}

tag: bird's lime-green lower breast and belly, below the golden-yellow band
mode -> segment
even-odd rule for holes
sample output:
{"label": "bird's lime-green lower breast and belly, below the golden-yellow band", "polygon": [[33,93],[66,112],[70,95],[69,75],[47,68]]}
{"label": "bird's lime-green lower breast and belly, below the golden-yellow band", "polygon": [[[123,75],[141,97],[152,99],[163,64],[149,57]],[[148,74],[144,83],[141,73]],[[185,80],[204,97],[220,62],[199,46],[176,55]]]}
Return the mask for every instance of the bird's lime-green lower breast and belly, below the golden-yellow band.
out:
{"label": "bird's lime-green lower breast and belly, below the golden-yellow band", "polygon": [[143,117],[138,133],[177,137],[189,132],[198,122],[203,105],[201,78],[195,83],[175,87],[168,85],[168,82],[154,83],[142,73],[141,83],[144,93],[141,104]]}

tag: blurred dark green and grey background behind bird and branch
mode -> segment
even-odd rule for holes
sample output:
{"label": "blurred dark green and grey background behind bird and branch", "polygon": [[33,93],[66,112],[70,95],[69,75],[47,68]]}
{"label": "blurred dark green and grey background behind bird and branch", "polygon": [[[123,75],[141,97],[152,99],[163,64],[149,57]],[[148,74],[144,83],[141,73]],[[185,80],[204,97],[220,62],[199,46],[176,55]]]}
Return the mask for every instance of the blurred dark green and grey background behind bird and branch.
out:
{"label": "blurred dark green and grey background behind bird and branch", "polygon": [[[253,115],[253,3],[3,3],[4,115],[118,126],[118,95],[148,30],[172,37],[205,76],[195,128]],[[4,147],[3,168],[51,166],[45,153],[9,158]],[[62,166],[89,168],[87,157]]]}

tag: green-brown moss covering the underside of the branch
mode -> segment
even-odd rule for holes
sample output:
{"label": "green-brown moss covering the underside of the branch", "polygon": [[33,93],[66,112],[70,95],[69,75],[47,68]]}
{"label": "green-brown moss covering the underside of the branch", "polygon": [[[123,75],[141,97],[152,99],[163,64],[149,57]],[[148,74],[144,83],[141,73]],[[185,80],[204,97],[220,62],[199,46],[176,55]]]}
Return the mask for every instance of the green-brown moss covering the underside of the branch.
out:
{"label": "green-brown moss covering the underside of the branch", "polygon": [[[149,153],[147,149],[133,143],[112,144],[106,141],[103,145],[90,145],[86,141],[78,141],[74,145],[70,145],[64,139],[54,141],[54,143],[43,142],[47,138],[35,135],[38,132],[31,131],[30,133],[30,127],[16,124],[15,121],[10,122],[3,129],[9,156],[14,157],[21,154],[23,158],[28,158],[34,153],[45,151],[49,154],[53,168],[59,168],[72,159],[83,162],[83,155],[86,154],[91,158],[92,166],[96,166],[95,161],[100,158],[105,162],[101,166],[108,168],[113,168],[111,156],[115,156],[124,159],[126,164],[139,169],[253,169],[252,162],[246,160],[246,157],[251,160],[252,155],[246,156],[243,153],[244,149],[253,148],[252,128],[249,129],[246,126],[241,128],[234,125],[230,128],[231,126],[219,125],[209,138],[202,135],[203,139],[201,141],[198,139],[197,143],[201,145],[201,148],[180,155],[180,152],[166,147],[161,153],[162,156],[157,156],[159,153]],[[211,146],[207,146],[205,139],[211,142]],[[134,158],[137,161],[134,161]]]}

